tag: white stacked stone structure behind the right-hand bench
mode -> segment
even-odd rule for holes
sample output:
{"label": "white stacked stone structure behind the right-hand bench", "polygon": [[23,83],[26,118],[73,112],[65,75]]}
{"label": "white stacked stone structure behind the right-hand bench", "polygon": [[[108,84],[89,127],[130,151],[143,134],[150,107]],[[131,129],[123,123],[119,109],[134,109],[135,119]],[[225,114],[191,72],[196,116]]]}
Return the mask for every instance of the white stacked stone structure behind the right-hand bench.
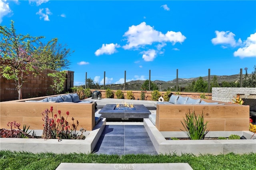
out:
{"label": "white stacked stone structure behind the right-hand bench", "polygon": [[212,88],[212,100],[216,101],[232,102],[237,94],[240,94],[240,98],[244,100],[244,105],[250,105],[250,109],[256,109],[256,88]]}

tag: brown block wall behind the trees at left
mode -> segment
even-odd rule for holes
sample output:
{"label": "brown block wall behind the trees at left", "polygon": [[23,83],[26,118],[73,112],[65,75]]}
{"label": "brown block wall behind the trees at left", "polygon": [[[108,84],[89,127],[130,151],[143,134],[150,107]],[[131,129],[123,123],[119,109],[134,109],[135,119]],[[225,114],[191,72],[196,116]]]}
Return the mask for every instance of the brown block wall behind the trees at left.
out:
{"label": "brown block wall behind the trees at left", "polygon": [[[41,75],[33,76],[30,74],[26,79],[26,82],[22,85],[22,98],[32,98],[37,96],[48,96],[53,94],[53,90],[50,85],[53,84],[51,77],[47,76],[48,73],[52,73],[54,70],[46,69]],[[66,82],[64,83],[64,90],[68,91],[71,87],[74,87],[74,72],[67,71]],[[14,80],[7,80],[6,78],[0,78],[0,101],[18,100],[18,92],[15,87]]]}

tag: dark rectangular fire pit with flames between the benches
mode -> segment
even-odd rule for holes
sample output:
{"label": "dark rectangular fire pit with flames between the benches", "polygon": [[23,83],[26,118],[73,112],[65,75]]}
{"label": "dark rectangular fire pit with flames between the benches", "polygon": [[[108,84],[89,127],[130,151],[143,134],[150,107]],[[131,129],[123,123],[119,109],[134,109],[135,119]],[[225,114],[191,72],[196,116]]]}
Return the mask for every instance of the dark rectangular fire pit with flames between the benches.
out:
{"label": "dark rectangular fire pit with flames between the benches", "polygon": [[123,120],[128,120],[130,118],[148,118],[148,115],[151,114],[151,112],[142,104],[132,105],[133,107],[118,105],[119,104],[106,104],[99,113],[102,114],[102,117],[122,118]]}

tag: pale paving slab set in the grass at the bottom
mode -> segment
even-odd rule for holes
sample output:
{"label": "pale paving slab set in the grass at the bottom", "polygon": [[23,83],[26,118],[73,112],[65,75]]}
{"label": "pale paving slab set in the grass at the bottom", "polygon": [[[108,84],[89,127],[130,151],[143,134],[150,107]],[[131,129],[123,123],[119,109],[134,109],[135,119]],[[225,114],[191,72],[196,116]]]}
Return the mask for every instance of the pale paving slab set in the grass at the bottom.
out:
{"label": "pale paving slab set in the grass at the bottom", "polygon": [[193,170],[188,163],[92,164],[60,163],[56,170]]}

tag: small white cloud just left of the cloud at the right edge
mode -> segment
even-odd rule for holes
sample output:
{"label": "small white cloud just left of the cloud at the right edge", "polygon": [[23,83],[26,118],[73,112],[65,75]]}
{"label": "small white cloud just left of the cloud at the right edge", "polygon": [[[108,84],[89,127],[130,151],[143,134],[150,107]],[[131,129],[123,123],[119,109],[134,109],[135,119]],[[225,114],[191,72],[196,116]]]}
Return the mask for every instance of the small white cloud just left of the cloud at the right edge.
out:
{"label": "small white cloud just left of the cloud at the right edge", "polygon": [[236,42],[234,39],[236,35],[230,31],[215,31],[215,33],[216,37],[211,40],[214,45],[226,44],[231,47],[236,47],[242,43],[241,39],[238,39],[238,42]]}

